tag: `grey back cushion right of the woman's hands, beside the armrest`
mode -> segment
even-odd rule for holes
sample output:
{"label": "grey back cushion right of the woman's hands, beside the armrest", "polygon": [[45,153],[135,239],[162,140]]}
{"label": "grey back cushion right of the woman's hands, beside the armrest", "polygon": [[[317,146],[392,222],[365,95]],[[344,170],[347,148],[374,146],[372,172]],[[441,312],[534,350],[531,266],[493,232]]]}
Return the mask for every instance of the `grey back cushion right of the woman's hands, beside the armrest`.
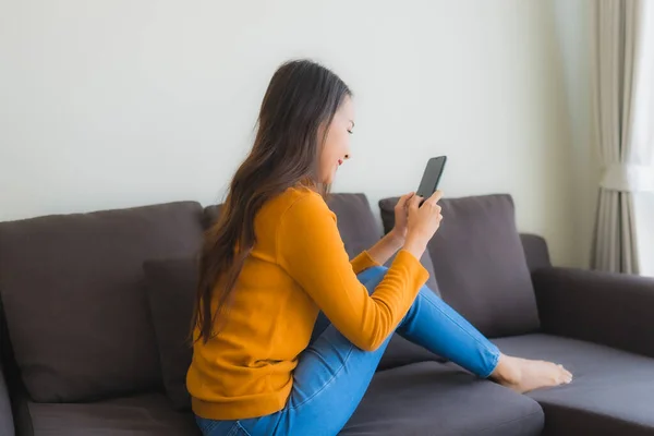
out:
{"label": "grey back cushion right of the woman's hands, beside the armrest", "polygon": [[[393,199],[379,202],[390,220]],[[491,337],[538,328],[538,313],[509,195],[444,198],[428,243],[443,299]]]}

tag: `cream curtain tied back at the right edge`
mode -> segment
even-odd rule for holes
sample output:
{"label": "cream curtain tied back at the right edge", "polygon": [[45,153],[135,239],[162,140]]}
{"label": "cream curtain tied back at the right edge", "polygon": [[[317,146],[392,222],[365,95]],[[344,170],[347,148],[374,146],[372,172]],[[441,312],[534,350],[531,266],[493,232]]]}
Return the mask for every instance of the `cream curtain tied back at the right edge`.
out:
{"label": "cream curtain tied back at the right edge", "polygon": [[595,4],[593,88],[604,174],[592,267],[639,274],[633,194],[654,192],[654,0]]}

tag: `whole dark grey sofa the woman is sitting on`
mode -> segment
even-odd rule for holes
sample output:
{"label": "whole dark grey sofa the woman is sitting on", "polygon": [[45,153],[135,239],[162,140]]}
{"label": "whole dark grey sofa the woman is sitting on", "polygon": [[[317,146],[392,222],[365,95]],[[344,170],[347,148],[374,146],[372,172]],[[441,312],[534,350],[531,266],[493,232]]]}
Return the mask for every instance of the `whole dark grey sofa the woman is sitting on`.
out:
{"label": "whole dark grey sofa the woman is sitting on", "polygon": [[[350,254],[378,240],[364,195],[329,204]],[[509,196],[443,207],[422,258],[434,291],[505,352],[574,382],[521,396],[393,337],[342,434],[654,435],[654,280],[552,267]],[[0,435],[198,434],[185,326],[218,213],[182,202],[0,223]]]}

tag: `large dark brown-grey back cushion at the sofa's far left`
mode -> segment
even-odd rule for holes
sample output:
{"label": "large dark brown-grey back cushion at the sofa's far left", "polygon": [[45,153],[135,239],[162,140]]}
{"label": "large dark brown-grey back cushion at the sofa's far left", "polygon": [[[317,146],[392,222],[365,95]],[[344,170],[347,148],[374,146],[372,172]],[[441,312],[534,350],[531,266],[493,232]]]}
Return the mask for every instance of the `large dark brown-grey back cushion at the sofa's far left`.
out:
{"label": "large dark brown-grey back cushion at the sofa's far left", "polygon": [[192,256],[201,220],[201,206],[184,202],[0,223],[0,292],[35,401],[161,385],[142,266]]}

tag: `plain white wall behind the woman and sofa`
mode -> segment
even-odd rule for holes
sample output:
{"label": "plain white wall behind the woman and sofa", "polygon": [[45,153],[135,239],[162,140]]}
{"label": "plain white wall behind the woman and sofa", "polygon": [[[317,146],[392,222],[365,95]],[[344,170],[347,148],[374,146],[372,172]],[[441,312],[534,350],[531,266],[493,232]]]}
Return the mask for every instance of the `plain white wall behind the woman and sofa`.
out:
{"label": "plain white wall behind the woman and sofa", "polygon": [[219,199],[272,71],[312,57],[356,94],[336,191],[376,204],[447,154],[447,195],[509,192],[582,262],[553,2],[0,4],[0,220]]}

